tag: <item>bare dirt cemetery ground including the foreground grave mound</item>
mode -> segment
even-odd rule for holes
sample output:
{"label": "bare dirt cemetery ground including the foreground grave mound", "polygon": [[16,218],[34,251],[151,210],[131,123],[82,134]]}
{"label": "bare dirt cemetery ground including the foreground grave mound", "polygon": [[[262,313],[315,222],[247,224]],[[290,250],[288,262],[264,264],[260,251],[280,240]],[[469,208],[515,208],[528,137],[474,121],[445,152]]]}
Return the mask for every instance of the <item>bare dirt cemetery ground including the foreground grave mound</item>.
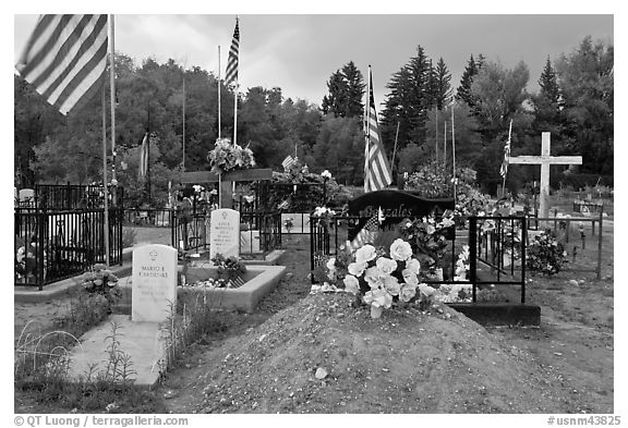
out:
{"label": "bare dirt cemetery ground including the foreground grave mound", "polygon": [[[120,396],[114,412],[612,414],[609,224],[601,280],[568,270],[530,276],[527,302],[541,306],[539,328],[484,328],[448,307],[388,310],[371,319],[346,295],[310,295],[309,237],[285,235],[288,274],[257,309],[216,314],[212,331],[147,393],[144,407],[125,405]],[[138,229],[138,242],[145,233],[162,231]],[[594,245],[578,255],[595,256]],[[16,303],[16,338],[27,321],[53,329],[67,306],[65,298]],[[105,413],[107,404],[77,412]],[[15,413],[73,411],[19,389],[14,405]]]}

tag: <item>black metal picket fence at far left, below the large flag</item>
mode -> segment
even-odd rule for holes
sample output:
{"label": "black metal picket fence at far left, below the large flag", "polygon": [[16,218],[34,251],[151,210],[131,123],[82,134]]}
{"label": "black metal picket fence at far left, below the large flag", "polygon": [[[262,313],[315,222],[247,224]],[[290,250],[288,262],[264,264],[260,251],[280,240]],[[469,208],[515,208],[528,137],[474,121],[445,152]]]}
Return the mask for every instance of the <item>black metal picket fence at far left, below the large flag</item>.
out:
{"label": "black metal picket fence at far left, below the large flag", "polygon": [[[109,264],[122,264],[122,208],[109,209]],[[105,210],[15,208],[14,283],[43,286],[106,262]]]}

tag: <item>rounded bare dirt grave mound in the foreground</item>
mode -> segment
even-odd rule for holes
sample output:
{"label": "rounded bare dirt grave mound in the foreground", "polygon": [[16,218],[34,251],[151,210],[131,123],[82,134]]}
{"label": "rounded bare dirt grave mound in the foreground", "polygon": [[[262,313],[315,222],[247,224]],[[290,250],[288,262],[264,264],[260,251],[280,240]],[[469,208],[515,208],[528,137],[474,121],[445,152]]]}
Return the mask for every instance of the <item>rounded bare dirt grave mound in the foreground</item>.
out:
{"label": "rounded bare dirt grave mound in the foreground", "polygon": [[[556,375],[446,306],[316,294],[205,354],[186,413],[560,413]],[[189,399],[189,396],[188,396]]]}

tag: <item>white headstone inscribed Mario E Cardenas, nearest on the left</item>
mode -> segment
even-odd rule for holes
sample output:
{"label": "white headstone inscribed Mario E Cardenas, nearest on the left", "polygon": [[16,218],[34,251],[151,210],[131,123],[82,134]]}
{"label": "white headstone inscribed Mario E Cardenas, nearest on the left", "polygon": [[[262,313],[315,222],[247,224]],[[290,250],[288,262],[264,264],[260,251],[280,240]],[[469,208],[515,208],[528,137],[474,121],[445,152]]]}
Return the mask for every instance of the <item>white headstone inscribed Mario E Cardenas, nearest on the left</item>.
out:
{"label": "white headstone inscribed Mario E Cardenas, nearest on the left", "polygon": [[150,244],[133,250],[131,319],[162,322],[177,305],[177,249]]}

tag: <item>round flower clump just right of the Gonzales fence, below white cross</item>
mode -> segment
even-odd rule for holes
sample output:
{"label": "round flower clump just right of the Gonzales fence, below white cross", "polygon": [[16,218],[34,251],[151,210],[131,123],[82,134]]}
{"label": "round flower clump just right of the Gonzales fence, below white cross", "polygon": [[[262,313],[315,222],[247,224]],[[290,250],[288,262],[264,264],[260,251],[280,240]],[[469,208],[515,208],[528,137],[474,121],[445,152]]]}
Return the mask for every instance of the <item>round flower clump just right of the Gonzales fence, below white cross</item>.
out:
{"label": "round flower clump just right of the Gonzales fence, below white cross", "polygon": [[526,249],[526,267],[543,274],[558,273],[568,261],[567,252],[550,229],[534,236]]}

